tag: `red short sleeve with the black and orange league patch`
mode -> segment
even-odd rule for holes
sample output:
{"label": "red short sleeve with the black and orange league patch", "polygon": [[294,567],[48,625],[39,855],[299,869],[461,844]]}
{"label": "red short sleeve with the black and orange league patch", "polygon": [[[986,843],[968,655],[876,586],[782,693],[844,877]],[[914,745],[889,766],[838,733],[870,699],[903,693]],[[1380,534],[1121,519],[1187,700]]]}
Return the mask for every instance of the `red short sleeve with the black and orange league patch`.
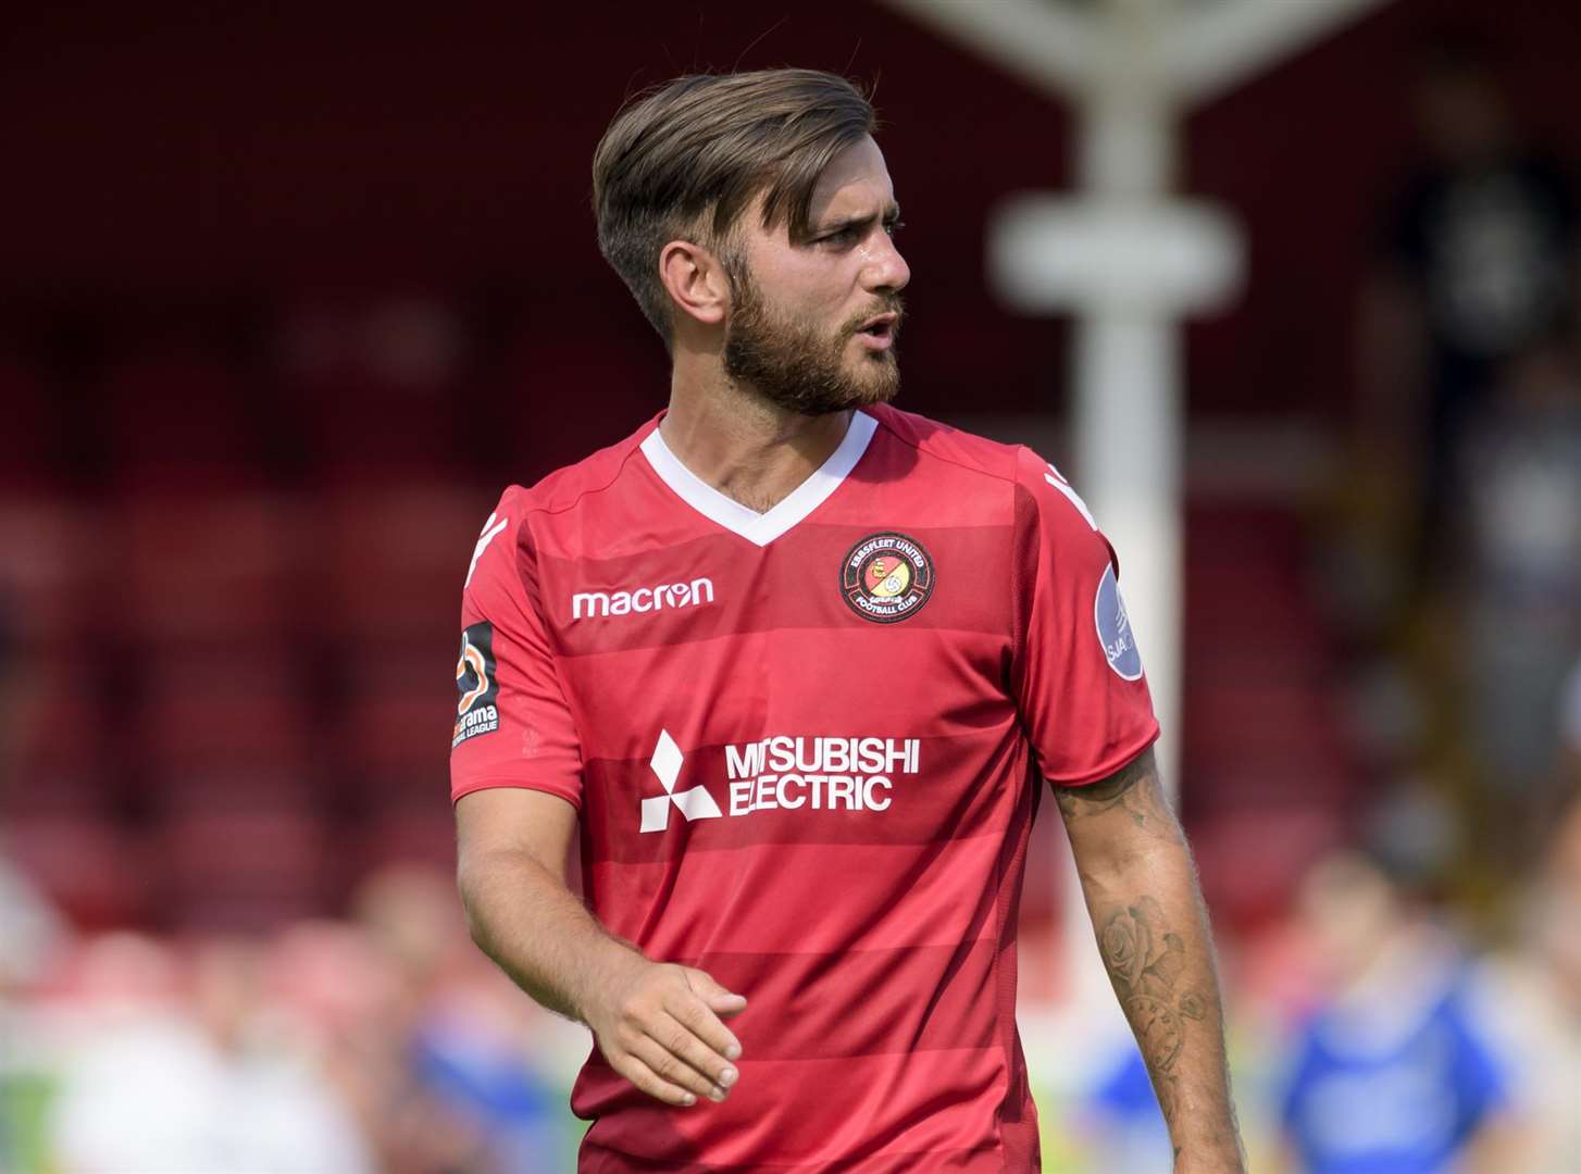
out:
{"label": "red short sleeve with the black and orange league patch", "polygon": [[462,588],[451,801],[487,787],[526,787],[580,809],[580,739],[522,581],[533,561],[522,514],[512,487],[484,523]]}

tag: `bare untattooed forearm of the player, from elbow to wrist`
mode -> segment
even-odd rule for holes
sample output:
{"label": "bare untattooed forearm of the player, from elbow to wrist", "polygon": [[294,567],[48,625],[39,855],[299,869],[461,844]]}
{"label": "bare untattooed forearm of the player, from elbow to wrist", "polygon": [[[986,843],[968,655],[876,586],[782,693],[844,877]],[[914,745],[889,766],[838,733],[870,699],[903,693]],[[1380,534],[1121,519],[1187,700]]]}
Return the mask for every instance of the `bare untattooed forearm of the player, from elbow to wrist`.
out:
{"label": "bare untattooed forearm of the player, from elbow to wrist", "polygon": [[594,984],[642,959],[525,852],[465,861],[458,886],[477,946],[536,1002],[579,1022]]}

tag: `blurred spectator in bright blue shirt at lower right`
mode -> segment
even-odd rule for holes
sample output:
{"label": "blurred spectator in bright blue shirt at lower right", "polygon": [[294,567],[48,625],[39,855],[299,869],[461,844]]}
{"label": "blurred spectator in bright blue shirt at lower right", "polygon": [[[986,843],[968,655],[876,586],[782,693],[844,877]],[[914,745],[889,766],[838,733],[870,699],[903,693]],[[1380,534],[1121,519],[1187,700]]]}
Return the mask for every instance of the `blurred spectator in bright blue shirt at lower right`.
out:
{"label": "blurred spectator in bright blue shirt at lower right", "polygon": [[1469,995],[1467,956],[1404,861],[1342,852],[1303,883],[1325,991],[1293,1038],[1282,1122],[1307,1174],[1513,1171],[1507,1074]]}

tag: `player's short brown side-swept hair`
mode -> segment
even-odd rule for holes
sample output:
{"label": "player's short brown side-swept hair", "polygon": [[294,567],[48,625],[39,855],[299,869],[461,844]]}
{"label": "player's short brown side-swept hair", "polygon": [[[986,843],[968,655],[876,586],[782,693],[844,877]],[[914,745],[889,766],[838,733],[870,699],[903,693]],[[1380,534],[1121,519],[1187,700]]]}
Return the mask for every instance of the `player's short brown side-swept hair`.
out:
{"label": "player's short brown side-swept hair", "polygon": [[666,346],[659,250],[689,234],[721,248],[759,193],[765,229],[805,237],[819,175],[876,125],[855,85],[817,70],[689,74],[621,107],[593,153],[598,245]]}

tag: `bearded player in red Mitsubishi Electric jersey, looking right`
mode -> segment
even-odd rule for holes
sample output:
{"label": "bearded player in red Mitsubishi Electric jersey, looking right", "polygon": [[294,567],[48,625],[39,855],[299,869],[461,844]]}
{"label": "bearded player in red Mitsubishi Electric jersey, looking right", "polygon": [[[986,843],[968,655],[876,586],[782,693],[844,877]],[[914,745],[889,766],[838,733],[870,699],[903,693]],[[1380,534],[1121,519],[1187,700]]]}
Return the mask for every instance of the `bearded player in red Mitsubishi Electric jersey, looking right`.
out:
{"label": "bearded player in red Mitsubishi Electric jersey, looking right", "polygon": [[473,935],[593,1030],[585,1172],[1034,1171],[1015,923],[1047,777],[1176,1169],[1241,1169],[1111,551],[1053,466],[887,406],[911,273],[873,126],[781,70],[681,77],[599,144],[670,405],[477,540]]}

